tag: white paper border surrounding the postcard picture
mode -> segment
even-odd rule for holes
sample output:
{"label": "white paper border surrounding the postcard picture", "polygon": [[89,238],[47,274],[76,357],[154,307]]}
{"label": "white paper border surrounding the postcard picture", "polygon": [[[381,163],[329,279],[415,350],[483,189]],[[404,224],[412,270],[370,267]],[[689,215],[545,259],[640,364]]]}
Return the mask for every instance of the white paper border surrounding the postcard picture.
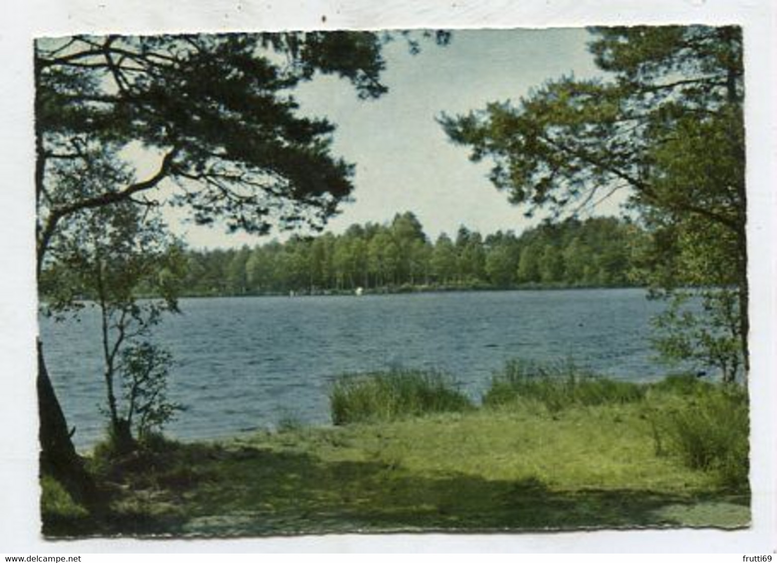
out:
{"label": "white paper border surrounding the postcard picture", "polygon": [[[11,4],[11,5],[9,5]],[[775,544],[775,5],[772,0],[11,0],[3,5],[0,81],[0,551],[277,552],[531,551],[771,553]],[[323,21],[322,16],[326,16]],[[601,531],[466,536],[327,536],[263,540],[48,542],[38,533],[34,287],[32,40],[79,32],[547,27],[739,23],[747,64],[748,236],[751,243],[753,526],[749,530]],[[773,247],[772,247],[773,248]]]}

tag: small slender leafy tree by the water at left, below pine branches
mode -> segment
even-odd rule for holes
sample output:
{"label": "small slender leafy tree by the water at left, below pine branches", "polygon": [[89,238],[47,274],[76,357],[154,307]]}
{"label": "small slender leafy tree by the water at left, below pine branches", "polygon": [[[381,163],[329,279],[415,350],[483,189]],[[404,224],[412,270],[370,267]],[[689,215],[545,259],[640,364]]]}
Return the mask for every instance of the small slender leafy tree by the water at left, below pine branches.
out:
{"label": "small slender leafy tree by the water at left, below pine branches", "polygon": [[[51,313],[99,311],[110,442],[119,453],[161,429],[177,409],[166,398],[169,353],[152,344],[153,327],[177,311],[186,262],[158,218],[124,203],[78,213],[51,250],[41,276]],[[66,279],[67,283],[62,283]],[[158,295],[138,300],[138,292]]]}

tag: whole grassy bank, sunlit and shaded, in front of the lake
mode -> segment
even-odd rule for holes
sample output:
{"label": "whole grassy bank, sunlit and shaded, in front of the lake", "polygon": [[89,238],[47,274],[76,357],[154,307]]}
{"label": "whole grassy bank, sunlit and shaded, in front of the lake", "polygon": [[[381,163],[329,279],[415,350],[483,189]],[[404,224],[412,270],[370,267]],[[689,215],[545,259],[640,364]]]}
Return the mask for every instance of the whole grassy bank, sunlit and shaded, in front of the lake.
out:
{"label": "whole grassy bank, sunlit and shaded, in front of the lake", "polygon": [[[481,407],[429,374],[341,380],[333,397],[338,389],[347,393],[337,408],[351,414],[369,411],[364,397],[382,396],[375,389],[394,393],[384,404],[412,407],[332,428],[287,425],[232,442],[161,442],[120,460],[95,456],[105,511],[89,516],[59,491],[49,495],[56,505],[47,508],[46,532],[254,536],[749,520],[747,408],[736,391],[687,377],[602,383],[518,363],[495,376]],[[426,412],[423,400],[401,398],[430,390],[447,400]],[[716,413],[726,417],[723,428]],[[744,478],[731,467],[742,463],[741,447]]]}

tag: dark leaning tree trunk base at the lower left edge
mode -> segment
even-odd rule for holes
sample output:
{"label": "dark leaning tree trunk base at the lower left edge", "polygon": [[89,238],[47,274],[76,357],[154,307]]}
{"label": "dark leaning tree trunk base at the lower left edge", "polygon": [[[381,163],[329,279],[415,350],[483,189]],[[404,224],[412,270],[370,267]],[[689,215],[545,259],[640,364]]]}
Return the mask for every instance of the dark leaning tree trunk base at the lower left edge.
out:
{"label": "dark leaning tree trunk base at the lower left edge", "polygon": [[95,500],[95,484],[86,472],[83,460],[68,432],[54,387],[51,386],[43,348],[38,348],[38,414],[40,416],[40,473],[50,475],[59,481],[76,502],[91,506]]}

